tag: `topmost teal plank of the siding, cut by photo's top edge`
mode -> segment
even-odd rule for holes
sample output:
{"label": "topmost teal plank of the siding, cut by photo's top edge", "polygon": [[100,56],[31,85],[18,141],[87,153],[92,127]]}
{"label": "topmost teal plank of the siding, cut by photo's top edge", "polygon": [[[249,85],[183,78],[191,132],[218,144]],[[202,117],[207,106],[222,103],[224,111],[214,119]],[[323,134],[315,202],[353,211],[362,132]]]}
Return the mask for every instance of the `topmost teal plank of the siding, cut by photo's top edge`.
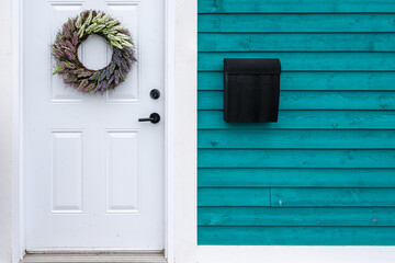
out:
{"label": "topmost teal plank of the siding, cut by photo's top edge", "polygon": [[199,0],[199,13],[387,13],[392,0]]}

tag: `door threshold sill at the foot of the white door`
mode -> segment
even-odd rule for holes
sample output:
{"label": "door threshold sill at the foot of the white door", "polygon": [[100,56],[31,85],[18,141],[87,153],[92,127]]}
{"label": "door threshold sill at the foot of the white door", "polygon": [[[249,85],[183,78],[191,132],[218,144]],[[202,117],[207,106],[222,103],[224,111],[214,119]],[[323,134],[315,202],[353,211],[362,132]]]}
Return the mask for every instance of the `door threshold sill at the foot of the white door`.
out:
{"label": "door threshold sill at the foot of the white door", "polygon": [[166,263],[163,251],[133,252],[34,252],[26,253],[21,263]]}

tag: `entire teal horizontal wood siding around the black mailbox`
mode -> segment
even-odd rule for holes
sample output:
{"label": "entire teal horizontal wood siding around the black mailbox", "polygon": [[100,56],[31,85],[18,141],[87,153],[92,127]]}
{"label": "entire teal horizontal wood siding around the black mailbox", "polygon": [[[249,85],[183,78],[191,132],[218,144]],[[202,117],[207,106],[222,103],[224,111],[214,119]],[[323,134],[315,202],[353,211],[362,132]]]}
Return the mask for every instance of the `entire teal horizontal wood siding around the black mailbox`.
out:
{"label": "entire teal horizontal wood siding around the black mailbox", "polygon": [[[395,245],[395,2],[199,0],[198,243]],[[223,59],[280,58],[279,122],[223,121]]]}

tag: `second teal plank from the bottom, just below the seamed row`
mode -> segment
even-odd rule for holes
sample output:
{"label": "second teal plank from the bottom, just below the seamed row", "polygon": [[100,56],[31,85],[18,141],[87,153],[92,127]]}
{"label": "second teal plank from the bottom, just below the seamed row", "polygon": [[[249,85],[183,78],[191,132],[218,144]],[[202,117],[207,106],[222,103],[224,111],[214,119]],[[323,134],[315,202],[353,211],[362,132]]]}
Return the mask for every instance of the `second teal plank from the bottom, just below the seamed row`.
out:
{"label": "second teal plank from the bottom, just below the seamed row", "polygon": [[198,226],[395,226],[395,207],[199,207]]}

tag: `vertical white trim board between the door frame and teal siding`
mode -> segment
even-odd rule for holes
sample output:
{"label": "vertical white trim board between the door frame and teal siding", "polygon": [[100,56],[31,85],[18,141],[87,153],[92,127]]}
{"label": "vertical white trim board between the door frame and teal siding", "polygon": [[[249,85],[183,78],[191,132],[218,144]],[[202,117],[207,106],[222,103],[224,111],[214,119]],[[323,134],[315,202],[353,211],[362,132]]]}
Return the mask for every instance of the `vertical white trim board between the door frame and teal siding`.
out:
{"label": "vertical white trim board between the door frame and teal siding", "polygon": [[198,0],[174,0],[174,262],[196,261]]}

